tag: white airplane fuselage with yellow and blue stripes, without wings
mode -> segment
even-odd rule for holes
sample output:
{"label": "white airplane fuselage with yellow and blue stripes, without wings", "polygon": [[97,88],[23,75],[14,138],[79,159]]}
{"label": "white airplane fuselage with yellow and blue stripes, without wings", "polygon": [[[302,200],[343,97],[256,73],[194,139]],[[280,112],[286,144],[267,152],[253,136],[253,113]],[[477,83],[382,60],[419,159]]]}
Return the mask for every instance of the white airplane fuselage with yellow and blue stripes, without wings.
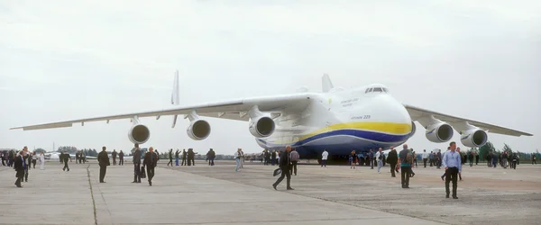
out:
{"label": "white airplane fuselage with yellow and blue stripes, without wings", "polygon": [[[373,92],[376,87],[381,92]],[[415,128],[404,105],[387,90],[383,85],[369,85],[314,93],[305,111],[282,112],[274,119],[274,133],[256,141],[267,149],[290,145],[303,158],[318,157],[324,149],[330,155],[349,155],[352,150],[399,146]]]}

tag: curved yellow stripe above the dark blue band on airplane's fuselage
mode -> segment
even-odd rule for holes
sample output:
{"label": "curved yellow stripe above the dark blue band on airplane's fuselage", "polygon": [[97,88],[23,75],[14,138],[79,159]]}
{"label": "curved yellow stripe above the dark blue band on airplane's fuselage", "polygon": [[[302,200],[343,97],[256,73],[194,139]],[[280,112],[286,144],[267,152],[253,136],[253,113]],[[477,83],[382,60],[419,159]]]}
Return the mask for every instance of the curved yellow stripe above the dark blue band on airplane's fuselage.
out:
{"label": "curved yellow stripe above the dark blue band on airplane's fuselage", "polygon": [[325,133],[334,130],[370,130],[376,132],[384,132],[390,134],[404,135],[408,134],[411,131],[411,123],[397,123],[397,122],[385,122],[385,121],[355,121],[355,122],[344,122],[334,125],[330,125],[326,128],[322,128],[313,132],[308,133],[307,135],[302,136],[300,139],[307,139],[314,135]]}

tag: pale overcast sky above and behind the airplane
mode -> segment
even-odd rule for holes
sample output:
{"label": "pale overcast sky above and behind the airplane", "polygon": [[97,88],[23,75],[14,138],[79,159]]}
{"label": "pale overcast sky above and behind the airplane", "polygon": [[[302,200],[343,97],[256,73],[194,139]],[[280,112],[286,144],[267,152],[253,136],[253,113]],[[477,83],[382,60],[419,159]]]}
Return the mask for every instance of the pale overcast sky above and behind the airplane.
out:
{"label": "pale overcast sky above and behind the airplane", "polygon": [[[402,103],[534,134],[490,133],[496,148],[539,148],[539,1],[263,2],[1,1],[0,148],[130,149],[129,120],[8,129],[170,107],[176,69],[181,104],[319,92],[328,73],[335,86],[381,83]],[[144,146],[261,151],[247,122],[208,119],[196,141],[188,120],[171,121],[142,119]],[[417,123],[411,148],[446,148],[424,131]]]}

